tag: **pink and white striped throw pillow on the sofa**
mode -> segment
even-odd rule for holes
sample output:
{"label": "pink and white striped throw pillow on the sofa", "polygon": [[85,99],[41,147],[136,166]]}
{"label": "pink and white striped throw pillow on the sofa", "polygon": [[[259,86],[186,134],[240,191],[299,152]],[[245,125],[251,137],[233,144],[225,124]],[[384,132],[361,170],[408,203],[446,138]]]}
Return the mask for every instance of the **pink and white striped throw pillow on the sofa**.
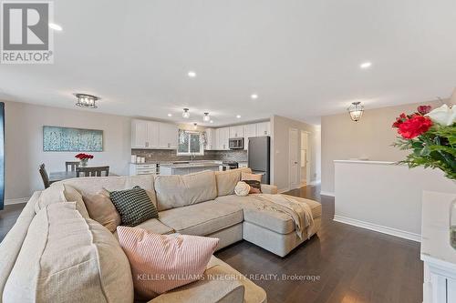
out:
{"label": "pink and white striped throw pillow on the sofa", "polygon": [[139,227],[118,227],[120,247],[130,260],[140,297],[154,298],[202,277],[218,238],[158,235]]}

